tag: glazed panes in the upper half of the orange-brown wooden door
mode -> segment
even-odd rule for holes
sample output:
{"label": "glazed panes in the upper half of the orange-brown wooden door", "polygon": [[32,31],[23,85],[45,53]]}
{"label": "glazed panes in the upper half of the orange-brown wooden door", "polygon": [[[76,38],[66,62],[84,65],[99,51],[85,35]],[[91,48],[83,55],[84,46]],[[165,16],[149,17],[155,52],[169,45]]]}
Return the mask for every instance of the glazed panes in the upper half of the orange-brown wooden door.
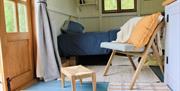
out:
{"label": "glazed panes in the upper half of the orange-brown wooden door", "polygon": [[28,32],[26,0],[4,0],[6,32]]}

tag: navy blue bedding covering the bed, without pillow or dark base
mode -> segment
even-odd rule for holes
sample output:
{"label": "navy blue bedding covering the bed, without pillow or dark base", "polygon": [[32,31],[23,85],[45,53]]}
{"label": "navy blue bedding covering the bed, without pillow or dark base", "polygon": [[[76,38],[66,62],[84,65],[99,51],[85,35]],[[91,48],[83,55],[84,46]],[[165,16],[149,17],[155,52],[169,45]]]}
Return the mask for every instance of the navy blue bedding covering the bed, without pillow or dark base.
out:
{"label": "navy blue bedding covering the bed, without pillow or dark base", "polygon": [[116,39],[119,29],[107,32],[65,33],[58,36],[60,56],[106,55],[110,50],[100,48],[101,42]]}

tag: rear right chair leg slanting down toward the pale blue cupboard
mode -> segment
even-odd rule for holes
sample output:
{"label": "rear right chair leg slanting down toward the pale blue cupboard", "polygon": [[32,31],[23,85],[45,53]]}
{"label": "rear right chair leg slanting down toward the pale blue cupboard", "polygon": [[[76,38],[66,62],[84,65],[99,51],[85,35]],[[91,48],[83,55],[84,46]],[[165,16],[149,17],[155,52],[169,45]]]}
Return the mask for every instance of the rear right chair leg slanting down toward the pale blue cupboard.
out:
{"label": "rear right chair leg slanting down toward the pale blue cupboard", "polygon": [[160,55],[158,53],[157,47],[154,43],[152,44],[152,49],[153,49],[153,55],[156,57],[156,60],[159,64],[160,70],[162,73],[164,73],[162,60],[161,60]]}

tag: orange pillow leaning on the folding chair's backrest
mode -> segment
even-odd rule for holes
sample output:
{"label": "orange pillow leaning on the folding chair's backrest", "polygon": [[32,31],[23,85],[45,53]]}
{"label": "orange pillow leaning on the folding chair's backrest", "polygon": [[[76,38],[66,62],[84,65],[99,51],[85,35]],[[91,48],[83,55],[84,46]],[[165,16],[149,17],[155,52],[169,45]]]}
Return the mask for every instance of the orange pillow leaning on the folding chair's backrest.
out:
{"label": "orange pillow leaning on the folding chair's backrest", "polygon": [[161,16],[161,13],[155,13],[143,17],[133,28],[133,32],[128,40],[128,43],[133,44],[136,48],[145,46],[151,38],[156,26],[160,22],[159,17]]}

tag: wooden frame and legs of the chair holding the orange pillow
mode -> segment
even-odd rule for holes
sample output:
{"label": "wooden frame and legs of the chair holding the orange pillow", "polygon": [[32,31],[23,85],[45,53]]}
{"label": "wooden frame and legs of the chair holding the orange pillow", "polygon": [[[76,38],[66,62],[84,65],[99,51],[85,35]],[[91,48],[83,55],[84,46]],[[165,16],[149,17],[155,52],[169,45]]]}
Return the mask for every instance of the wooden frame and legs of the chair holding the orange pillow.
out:
{"label": "wooden frame and legs of the chair holding the orange pillow", "polygon": [[157,32],[160,31],[163,27],[164,27],[164,21],[161,21],[157,25],[153,35],[151,36],[151,38],[150,38],[150,40],[149,40],[148,44],[146,45],[146,47],[145,47],[143,52],[122,52],[122,51],[113,50],[112,54],[111,54],[111,56],[109,58],[109,61],[108,61],[107,65],[106,65],[106,67],[105,67],[104,76],[107,75],[107,72],[108,72],[108,69],[110,67],[110,64],[112,63],[112,58],[116,54],[116,52],[127,55],[127,57],[129,58],[131,64],[133,65],[134,69],[136,69],[136,67],[135,67],[135,65],[134,65],[134,63],[133,63],[133,61],[132,61],[130,56],[138,55],[140,57],[140,61],[139,61],[139,64],[137,66],[137,69],[135,70],[135,73],[134,73],[134,75],[132,77],[132,80],[131,80],[131,83],[130,83],[130,87],[129,87],[132,90],[133,86],[135,85],[135,82],[136,82],[136,80],[138,78],[138,75],[139,75],[139,73],[140,73],[140,71],[141,71],[141,69],[142,69],[142,67],[144,65],[144,63],[146,62],[147,56],[149,54],[148,51],[150,50],[150,48],[152,48],[153,55],[156,57],[156,59],[158,61],[158,64],[160,66],[160,69],[163,72],[162,60],[161,60],[160,55],[158,53],[157,46],[154,43],[155,37],[157,35]]}

